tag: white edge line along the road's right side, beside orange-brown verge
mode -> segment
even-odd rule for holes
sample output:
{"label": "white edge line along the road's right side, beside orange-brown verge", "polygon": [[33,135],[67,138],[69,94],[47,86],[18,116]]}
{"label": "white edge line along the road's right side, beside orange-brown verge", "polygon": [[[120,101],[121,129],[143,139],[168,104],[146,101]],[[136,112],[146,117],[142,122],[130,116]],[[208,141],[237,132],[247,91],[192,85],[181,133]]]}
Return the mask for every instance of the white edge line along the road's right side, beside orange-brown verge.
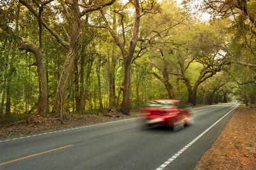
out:
{"label": "white edge line along the road's right side, beside orange-brown verge", "polygon": [[[240,104],[238,105],[240,106]],[[236,109],[238,106],[236,106],[235,108],[233,108],[232,110],[228,111],[228,113],[230,113],[231,111],[233,111],[234,109]],[[193,141],[191,141],[188,145],[184,146],[184,148],[182,148],[181,150],[179,150],[179,152],[175,153],[175,155],[173,155],[170,159],[166,160],[166,162],[164,162],[161,166],[157,167],[156,170],[162,170],[164,169],[164,167],[168,166],[168,164],[170,164],[175,158],[179,157],[179,155],[184,152],[186,149],[189,148],[189,146],[193,145],[193,143],[195,143],[199,138],[201,138],[206,132],[208,132],[210,129],[212,129],[212,127],[214,127],[214,125],[218,124],[218,122],[220,122],[223,118],[225,118],[228,113],[226,113],[226,115],[224,115],[223,117],[221,117],[217,122],[215,122],[214,124],[212,124],[208,129],[206,129],[204,132],[202,132],[202,134],[198,135],[195,139],[193,139]]]}

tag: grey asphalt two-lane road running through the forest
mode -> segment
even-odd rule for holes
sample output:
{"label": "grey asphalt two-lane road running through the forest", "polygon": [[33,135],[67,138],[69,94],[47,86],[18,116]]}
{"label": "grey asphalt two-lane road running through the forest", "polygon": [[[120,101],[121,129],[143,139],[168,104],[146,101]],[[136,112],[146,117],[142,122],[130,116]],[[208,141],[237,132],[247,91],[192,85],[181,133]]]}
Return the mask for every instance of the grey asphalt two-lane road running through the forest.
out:
{"label": "grey asphalt two-lane road running through the forest", "polygon": [[193,169],[239,107],[191,110],[195,124],[173,132],[141,118],[0,140],[0,169]]}

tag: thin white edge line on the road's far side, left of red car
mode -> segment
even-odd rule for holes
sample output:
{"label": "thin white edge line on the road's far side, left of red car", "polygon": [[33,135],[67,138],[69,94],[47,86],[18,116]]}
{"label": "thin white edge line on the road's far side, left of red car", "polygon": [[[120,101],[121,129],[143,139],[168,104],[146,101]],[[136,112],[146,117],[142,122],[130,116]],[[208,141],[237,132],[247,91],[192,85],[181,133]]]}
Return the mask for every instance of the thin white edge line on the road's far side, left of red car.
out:
{"label": "thin white edge line on the road's far side, left of red car", "polygon": [[136,119],[136,118],[138,118],[138,117],[126,118],[126,119],[122,119],[122,120],[116,120],[116,121],[112,121],[112,122],[105,122],[105,123],[94,124],[94,125],[86,125],[86,126],[82,126],[82,127],[76,127],[76,128],[71,128],[71,129],[64,129],[64,130],[60,130],[60,131],[47,132],[47,133],[43,133],[43,134],[34,134],[32,136],[22,136],[20,138],[6,139],[4,141],[0,141],[0,143],[1,142],[6,142],[6,141],[14,141],[14,140],[23,139],[23,138],[31,138],[31,137],[34,137],[34,136],[41,136],[41,135],[45,135],[45,134],[52,134],[52,133],[76,130],[76,129],[86,128],[86,127],[93,127],[93,126],[97,126],[97,125],[113,124],[113,123],[116,123],[116,122],[123,122],[123,121],[126,121],[126,120],[132,120],[132,119]]}

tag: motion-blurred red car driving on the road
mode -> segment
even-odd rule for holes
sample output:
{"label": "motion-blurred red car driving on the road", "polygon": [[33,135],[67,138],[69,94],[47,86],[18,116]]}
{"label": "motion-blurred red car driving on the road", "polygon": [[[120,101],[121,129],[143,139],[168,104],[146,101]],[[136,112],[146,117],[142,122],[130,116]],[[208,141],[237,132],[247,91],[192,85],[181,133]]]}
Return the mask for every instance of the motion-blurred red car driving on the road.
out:
{"label": "motion-blurred red car driving on the road", "polygon": [[172,127],[173,131],[182,129],[184,125],[193,124],[193,116],[190,111],[179,108],[179,103],[179,100],[171,99],[148,101],[142,109],[145,113],[145,124],[168,126]]}

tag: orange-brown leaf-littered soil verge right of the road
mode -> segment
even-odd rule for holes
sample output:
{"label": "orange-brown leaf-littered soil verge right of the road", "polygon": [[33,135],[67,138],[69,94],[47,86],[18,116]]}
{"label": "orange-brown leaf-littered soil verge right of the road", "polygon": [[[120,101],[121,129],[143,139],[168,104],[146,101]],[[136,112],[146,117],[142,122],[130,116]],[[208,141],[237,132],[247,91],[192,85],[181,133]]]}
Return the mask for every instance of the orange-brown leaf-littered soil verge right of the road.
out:
{"label": "orange-brown leaf-littered soil verge right of the road", "polygon": [[241,104],[194,170],[256,169],[256,109]]}

